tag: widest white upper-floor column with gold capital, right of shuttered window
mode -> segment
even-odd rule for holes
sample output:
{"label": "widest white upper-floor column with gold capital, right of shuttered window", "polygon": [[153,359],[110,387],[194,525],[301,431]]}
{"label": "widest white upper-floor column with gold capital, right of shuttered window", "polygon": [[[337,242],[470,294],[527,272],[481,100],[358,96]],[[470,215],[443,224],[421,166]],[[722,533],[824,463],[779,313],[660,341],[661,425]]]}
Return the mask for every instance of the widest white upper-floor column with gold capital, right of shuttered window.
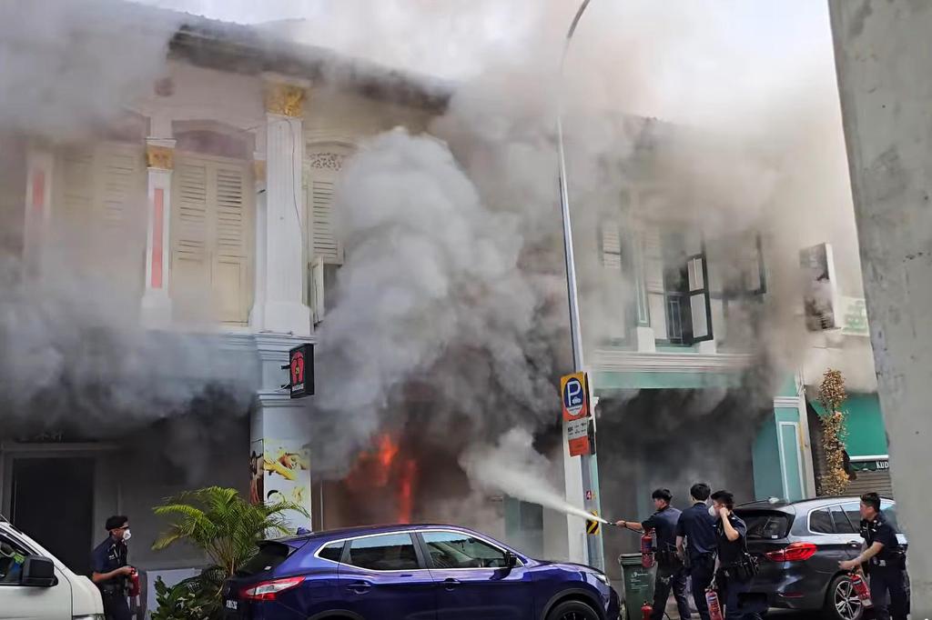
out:
{"label": "widest white upper-floor column with gold capital, right of shuttered window", "polygon": [[304,159],[302,105],[307,85],[267,77],[264,301],[260,330],[308,335],[310,309],[304,301],[304,231],[301,195]]}

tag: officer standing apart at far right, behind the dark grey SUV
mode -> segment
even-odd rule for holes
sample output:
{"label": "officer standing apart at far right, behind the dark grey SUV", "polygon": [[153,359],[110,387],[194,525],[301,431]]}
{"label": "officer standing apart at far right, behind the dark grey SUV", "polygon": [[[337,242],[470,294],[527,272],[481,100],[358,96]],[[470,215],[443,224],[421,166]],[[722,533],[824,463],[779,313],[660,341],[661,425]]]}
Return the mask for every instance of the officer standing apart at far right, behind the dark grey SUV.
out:
{"label": "officer standing apart at far right, behind the dark grey SUV", "polygon": [[[870,600],[877,620],[906,620],[910,613],[906,587],[906,552],[897,540],[897,529],[880,510],[880,495],[861,495],[861,537],[864,546],[860,555],[839,562],[845,571],[854,571],[868,562],[870,574]],[[887,594],[890,596],[887,608]]]}

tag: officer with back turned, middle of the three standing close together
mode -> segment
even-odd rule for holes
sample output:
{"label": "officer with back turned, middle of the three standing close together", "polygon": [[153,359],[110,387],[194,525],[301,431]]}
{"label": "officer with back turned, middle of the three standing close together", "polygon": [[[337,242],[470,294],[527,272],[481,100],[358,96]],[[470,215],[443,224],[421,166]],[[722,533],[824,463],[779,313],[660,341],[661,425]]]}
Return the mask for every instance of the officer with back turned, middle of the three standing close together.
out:
{"label": "officer with back turned, middle of the three standing close together", "polygon": [[677,521],[677,554],[684,560],[692,580],[692,600],[702,620],[708,620],[706,589],[715,574],[716,519],[708,513],[711,489],[697,482],[690,489],[692,506],[683,510]]}

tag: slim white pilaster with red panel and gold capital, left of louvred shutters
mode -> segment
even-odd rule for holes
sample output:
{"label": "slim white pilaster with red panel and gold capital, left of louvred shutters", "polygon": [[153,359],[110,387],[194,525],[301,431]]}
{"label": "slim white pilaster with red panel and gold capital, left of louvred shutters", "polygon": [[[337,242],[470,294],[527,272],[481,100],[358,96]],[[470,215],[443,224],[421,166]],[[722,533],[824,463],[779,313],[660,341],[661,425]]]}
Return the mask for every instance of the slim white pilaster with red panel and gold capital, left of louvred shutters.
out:
{"label": "slim white pilaster with red panel and gold capital, left of louvred shutters", "polygon": [[171,139],[149,138],[145,145],[149,181],[142,310],[144,324],[150,327],[165,327],[171,323],[169,267],[174,144]]}

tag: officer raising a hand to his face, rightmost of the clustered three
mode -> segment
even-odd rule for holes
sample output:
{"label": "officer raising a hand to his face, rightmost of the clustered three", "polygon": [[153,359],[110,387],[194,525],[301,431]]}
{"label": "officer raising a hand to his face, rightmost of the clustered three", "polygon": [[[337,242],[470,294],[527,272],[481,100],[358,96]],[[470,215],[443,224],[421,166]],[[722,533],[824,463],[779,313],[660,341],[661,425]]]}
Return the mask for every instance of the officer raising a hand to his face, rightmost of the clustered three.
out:
{"label": "officer raising a hand to his face, rightmost of the clustered three", "polygon": [[[728,620],[756,620],[767,612],[766,596],[758,600],[749,595],[755,573],[747,554],[747,524],[734,514],[734,495],[727,491],[712,493],[708,514],[716,519],[716,561],[714,588],[725,608]],[[694,586],[693,586],[694,587]]]}

